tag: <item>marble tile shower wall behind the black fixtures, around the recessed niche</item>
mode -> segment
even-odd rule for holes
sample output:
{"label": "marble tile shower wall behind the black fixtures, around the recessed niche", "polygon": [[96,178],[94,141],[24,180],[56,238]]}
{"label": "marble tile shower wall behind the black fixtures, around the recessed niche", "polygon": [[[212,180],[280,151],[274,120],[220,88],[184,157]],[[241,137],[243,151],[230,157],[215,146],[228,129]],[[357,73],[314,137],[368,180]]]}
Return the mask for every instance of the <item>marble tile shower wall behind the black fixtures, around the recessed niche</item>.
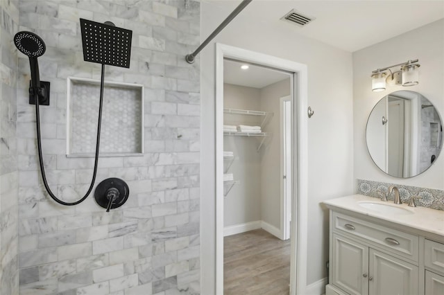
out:
{"label": "marble tile shower wall behind the black fixtures, around the recessed niche", "polygon": [[143,157],[102,157],[96,180],[125,180],[128,202],[110,213],[92,196],[59,206],[37,172],[28,60],[19,54],[20,294],[198,294],[200,62],[184,57],[199,42],[200,3],[21,0],[19,14],[19,29],[47,46],[40,58],[40,78],[51,82],[51,106],[41,111],[44,161],[60,198],[81,197],[93,167],[91,158],[65,155],[67,77],[99,79],[101,71],[83,61],[79,17],[133,30],[130,69],[108,66],[105,80],[145,87]]}

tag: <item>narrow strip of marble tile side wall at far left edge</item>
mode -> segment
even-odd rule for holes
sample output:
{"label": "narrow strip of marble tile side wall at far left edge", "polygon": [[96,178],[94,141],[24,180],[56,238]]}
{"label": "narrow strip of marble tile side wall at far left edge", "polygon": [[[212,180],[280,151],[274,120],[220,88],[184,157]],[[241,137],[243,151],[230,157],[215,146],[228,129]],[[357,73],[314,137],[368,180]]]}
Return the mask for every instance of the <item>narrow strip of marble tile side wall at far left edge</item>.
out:
{"label": "narrow strip of marble tile side wall at far left edge", "polygon": [[17,52],[19,1],[0,1],[0,295],[18,294]]}

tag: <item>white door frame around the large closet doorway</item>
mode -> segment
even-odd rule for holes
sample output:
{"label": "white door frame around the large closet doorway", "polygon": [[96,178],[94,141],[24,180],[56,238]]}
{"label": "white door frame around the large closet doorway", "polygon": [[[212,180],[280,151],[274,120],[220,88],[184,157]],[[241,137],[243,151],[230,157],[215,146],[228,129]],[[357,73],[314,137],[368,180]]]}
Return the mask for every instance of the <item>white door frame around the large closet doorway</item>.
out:
{"label": "white door frame around the large closet doorway", "polygon": [[216,43],[216,294],[223,294],[223,59],[250,62],[291,75],[293,147],[290,294],[303,294],[307,287],[308,224],[308,82],[307,65],[243,48]]}

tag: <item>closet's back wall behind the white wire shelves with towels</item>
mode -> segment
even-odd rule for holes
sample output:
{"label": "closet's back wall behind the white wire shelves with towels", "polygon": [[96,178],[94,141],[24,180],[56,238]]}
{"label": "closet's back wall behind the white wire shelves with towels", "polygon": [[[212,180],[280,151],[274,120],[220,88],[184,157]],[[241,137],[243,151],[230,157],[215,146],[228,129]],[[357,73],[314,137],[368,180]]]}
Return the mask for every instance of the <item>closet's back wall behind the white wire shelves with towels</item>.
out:
{"label": "closet's back wall behind the white wire shelves with towels", "polygon": [[[260,91],[256,88],[224,84],[223,107],[231,109],[260,110]],[[257,116],[223,114],[230,125],[257,125]],[[234,161],[228,173],[240,184],[234,185],[223,200],[224,226],[261,220],[261,166],[256,152],[258,140],[250,136],[223,136],[223,150],[234,152]],[[225,161],[226,163],[226,161]]]}

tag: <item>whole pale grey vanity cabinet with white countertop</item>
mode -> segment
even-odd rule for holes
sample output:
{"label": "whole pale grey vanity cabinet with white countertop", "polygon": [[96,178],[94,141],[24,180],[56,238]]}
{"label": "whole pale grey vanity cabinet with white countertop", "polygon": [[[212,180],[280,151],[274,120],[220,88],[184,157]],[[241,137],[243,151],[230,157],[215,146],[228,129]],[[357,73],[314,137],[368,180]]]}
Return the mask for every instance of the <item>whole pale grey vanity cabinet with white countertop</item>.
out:
{"label": "whole pale grey vanity cabinet with white countertop", "polygon": [[[444,295],[444,211],[364,195],[323,203],[330,209],[325,295]],[[379,212],[363,203],[405,212]]]}

